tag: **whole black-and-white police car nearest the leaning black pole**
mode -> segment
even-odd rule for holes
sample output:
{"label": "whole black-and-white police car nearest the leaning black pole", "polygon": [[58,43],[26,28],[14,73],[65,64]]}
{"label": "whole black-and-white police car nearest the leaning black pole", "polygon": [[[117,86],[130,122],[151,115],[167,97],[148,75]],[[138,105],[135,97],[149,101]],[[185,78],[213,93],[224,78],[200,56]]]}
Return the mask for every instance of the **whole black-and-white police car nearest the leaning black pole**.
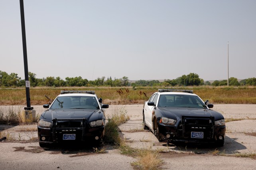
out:
{"label": "whole black-and-white police car nearest the leaning black pole", "polygon": [[98,145],[104,138],[104,108],[108,104],[99,103],[96,95],[59,95],[51,106],[45,104],[44,108],[48,110],[41,114],[37,124],[41,147],[70,142]]}

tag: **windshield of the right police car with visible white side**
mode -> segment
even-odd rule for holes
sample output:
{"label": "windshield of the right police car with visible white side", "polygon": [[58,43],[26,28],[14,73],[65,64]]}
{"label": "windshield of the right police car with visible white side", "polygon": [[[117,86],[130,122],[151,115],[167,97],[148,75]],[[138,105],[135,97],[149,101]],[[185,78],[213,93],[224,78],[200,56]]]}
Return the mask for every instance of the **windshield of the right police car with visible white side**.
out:
{"label": "windshield of the right police car with visible white side", "polygon": [[198,96],[193,95],[160,95],[158,107],[207,108]]}

